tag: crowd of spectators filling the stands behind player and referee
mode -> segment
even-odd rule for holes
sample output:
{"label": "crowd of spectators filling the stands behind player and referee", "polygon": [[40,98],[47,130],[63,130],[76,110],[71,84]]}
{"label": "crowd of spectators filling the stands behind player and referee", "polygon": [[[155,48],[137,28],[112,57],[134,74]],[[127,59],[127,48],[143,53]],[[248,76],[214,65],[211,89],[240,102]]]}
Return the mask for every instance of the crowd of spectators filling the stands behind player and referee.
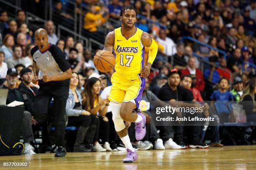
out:
{"label": "crowd of spectators filling the stands behind player and referee", "polygon": [[[123,6],[136,8],[136,26],[150,33],[159,46],[143,91],[142,100],[146,103],[196,100],[209,110],[214,110],[215,101],[248,101],[243,104],[247,122],[256,122],[255,1],[75,0],[75,3],[77,14],[82,13],[84,17],[83,36],[99,41],[105,39],[104,36],[97,37],[102,33],[101,26],[108,30],[120,27],[119,15]],[[92,51],[84,48],[81,42],[75,42],[72,35],[61,39],[54,32],[55,26],[71,23],[70,20],[74,18],[74,11],[69,13],[67,10],[69,5],[66,0],[54,0],[52,20],[48,20],[44,28],[49,42],[65,53],[73,71],[66,108],[67,126],[82,127],[79,129],[83,131],[78,132],[81,135],[75,139],[70,150],[122,150],[107,100],[114,70],[102,74],[93,64]],[[87,10],[81,11],[81,5]],[[57,16],[63,20],[57,19]],[[34,97],[40,88],[32,83],[33,58],[30,51],[35,46],[33,31],[26,23],[26,11],[19,10],[15,18],[11,18],[8,11],[1,9],[0,34],[3,40],[0,44],[0,87],[10,91],[7,104],[14,100],[25,102],[23,127],[26,130],[22,133],[27,154],[35,154],[30,143],[34,140],[32,127],[35,129],[38,125],[31,114]],[[213,48],[182,40],[183,36],[192,37]],[[205,101],[211,103],[207,105]],[[150,133],[142,141],[135,140],[134,123],[125,122],[130,139],[138,149],[207,148],[204,141],[208,129],[211,146],[223,146],[220,143],[218,110],[207,110],[200,115],[214,117],[216,121],[205,122],[202,127],[185,128],[154,125],[151,107],[143,111]],[[28,122],[31,122],[29,127]],[[188,133],[193,135],[184,138]],[[48,149],[51,146],[49,140],[47,137],[43,139]]]}

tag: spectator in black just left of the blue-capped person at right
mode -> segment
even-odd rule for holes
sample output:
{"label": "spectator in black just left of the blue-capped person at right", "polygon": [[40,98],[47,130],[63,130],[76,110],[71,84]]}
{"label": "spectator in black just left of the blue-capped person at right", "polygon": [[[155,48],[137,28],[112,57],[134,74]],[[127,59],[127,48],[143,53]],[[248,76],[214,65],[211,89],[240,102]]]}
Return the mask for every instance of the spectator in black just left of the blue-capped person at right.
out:
{"label": "spectator in black just left of the blue-capped person at right", "polygon": [[228,68],[232,72],[240,73],[242,62],[240,60],[241,57],[241,49],[236,48],[233,52],[233,55],[228,59]]}

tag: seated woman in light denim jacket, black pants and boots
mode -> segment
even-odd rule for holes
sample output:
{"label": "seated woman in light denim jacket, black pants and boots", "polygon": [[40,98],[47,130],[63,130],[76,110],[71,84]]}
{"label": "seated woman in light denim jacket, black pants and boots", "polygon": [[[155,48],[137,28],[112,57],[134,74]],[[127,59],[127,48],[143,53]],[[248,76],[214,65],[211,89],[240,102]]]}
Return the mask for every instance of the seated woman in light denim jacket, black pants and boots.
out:
{"label": "seated woman in light denim jacket, black pants and boots", "polygon": [[[73,72],[70,78],[69,97],[67,99],[66,112],[68,116],[67,126],[75,126],[78,129],[74,143],[73,152],[90,152],[90,148],[84,147],[84,140],[90,125],[95,126],[95,116],[82,109],[82,97],[80,92],[76,90],[79,84],[78,74]],[[94,122],[92,122],[94,119]]]}

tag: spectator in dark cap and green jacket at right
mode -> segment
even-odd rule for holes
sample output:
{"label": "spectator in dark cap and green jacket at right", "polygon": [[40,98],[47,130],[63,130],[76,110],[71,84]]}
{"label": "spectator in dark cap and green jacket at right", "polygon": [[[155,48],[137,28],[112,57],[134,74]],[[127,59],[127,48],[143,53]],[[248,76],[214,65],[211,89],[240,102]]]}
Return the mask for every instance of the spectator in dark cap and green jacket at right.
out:
{"label": "spectator in dark cap and green jacket at right", "polygon": [[236,102],[241,100],[243,95],[243,80],[241,77],[235,77],[233,81],[233,89],[230,91]]}

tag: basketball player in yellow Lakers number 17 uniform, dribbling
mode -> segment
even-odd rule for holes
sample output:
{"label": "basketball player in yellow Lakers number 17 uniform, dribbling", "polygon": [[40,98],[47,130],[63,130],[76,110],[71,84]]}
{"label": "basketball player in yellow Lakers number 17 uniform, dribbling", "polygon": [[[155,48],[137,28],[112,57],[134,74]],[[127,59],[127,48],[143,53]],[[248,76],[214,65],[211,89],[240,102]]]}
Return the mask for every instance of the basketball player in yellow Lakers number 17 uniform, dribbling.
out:
{"label": "basketball player in yellow Lakers number 17 uniform, dribbling", "polygon": [[[146,134],[146,117],[134,111],[138,108],[145,77],[150,73],[151,65],[156,57],[158,46],[147,32],[135,27],[136,9],[123,7],[120,12],[122,26],[109,32],[103,50],[113,51],[115,55],[115,71],[111,77],[112,87],[109,100],[115,130],[125,145],[127,156],[123,163],[133,163],[137,159],[136,150],[132,147],[128,131],[123,120],[135,122],[136,139],[142,140]],[[148,47],[148,62],[144,65],[144,50]]]}

